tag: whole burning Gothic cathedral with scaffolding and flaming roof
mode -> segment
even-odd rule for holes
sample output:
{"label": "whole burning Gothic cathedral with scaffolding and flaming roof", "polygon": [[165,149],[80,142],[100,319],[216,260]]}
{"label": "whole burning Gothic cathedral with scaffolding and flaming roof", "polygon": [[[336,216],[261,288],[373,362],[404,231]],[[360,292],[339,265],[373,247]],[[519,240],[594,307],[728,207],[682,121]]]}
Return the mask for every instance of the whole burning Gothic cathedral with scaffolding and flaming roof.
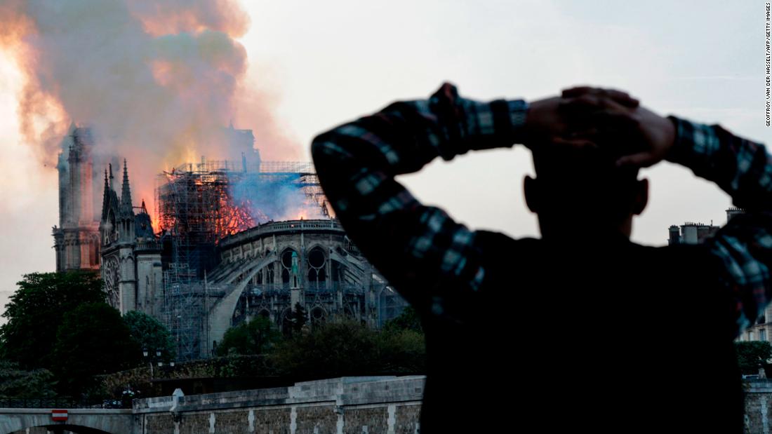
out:
{"label": "whole burning Gothic cathedral with scaffolding and flaming roof", "polygon": [[298,305],[311,325],[398,315],[405,301],[330,216],[312,165],[261,161],[251,130],[222,134],[227,160],[157,176],[151,216],[132,201],[133,162],[97,157],[91,130],[73,124],[59,154],[56,270],[98,271],[110,304],[164,323],[181,360],[212,355],[257,315],[289,330]]}

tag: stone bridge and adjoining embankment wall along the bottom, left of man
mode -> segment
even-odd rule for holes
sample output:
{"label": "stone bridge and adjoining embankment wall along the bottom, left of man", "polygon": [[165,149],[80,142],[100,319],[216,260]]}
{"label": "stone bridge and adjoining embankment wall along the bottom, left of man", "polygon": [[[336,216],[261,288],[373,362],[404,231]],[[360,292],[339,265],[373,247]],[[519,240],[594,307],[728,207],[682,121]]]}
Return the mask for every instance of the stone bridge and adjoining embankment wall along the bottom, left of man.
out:
{"label": "stone bridge and adjoining embankment wall along the bottom, left of man", "polygon": [[[207,395],[185,396],[178,391],[173,396],[135,399],[133,409],[17,405],[0,409],[0,434],[36,426],[113,434],[363,432],[367,426],[417,432],[423,390],[421,375],[343,377]],[[37,401],[28,405],[42,404]],[[68,409],[66,422],[55,422],[52,409]]]}

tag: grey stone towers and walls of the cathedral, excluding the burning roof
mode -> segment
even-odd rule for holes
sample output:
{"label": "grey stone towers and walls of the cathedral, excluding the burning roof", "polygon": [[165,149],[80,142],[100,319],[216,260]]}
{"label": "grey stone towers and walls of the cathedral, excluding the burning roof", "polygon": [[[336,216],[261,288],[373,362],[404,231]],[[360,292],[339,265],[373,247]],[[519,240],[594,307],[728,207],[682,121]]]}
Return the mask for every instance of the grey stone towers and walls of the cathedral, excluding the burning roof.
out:
{"label": "grey stone towers and walls of the cathedral, excluding the burning roof", "polygon": [[[298,305],[310,325],[344,316],[375,328],[405,306],[334,218],[271,220],[188,245],[154,228],[144,201],[134,207],[126,160],[120,182],[110,161],[94,152],[90,129],[73,124],[59,154],[56,270],[99,272],[110,305],[161,321],[178,359],[212,355],[228,328],[259,316],[287,331]],[[205,196],[207,186],[193,183],[188,193]],[[205,260],[191,268],[185,255]]]}

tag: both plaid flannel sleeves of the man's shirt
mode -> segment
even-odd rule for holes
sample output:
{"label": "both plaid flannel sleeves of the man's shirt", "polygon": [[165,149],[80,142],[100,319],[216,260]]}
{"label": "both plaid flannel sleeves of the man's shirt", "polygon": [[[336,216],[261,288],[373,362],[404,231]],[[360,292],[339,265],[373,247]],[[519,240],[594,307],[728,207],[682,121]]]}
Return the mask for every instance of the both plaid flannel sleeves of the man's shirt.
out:
{"label": "both plaid flannel sleeves of the man's shirt", "polygon": [[[424,315],[463,306],[486,284],[476,232],[445,211],[422,205],[394,177],[437,156],[521,143],[528,104],[478,102],[445,84],[428,100],[393,103],[313,140],[320,183],[364,255]],[[750,324],[770,299],[772,161],[763,145],[720,126],[671,118],[678,140],[669,160],[716,182],[748,214],[735,217],[709,248],[733,291],[736,324]],[[462,310],[454,314],[462,315]]]}

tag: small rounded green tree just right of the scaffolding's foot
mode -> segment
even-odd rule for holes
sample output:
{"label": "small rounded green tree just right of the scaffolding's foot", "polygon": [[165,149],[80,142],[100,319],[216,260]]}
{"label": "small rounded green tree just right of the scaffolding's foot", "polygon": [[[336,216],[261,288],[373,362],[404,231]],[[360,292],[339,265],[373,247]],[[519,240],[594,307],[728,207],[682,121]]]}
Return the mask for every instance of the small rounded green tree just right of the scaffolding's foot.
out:
{"label": "small rounded green tree just right of the scaffolding's foot", "polygon": [[225,331],[222,343],[217,347],[217,355],[260,355],[269,352],[279,341],[279,331],[269,318],[258,316],[252,321],[229,328]]}

